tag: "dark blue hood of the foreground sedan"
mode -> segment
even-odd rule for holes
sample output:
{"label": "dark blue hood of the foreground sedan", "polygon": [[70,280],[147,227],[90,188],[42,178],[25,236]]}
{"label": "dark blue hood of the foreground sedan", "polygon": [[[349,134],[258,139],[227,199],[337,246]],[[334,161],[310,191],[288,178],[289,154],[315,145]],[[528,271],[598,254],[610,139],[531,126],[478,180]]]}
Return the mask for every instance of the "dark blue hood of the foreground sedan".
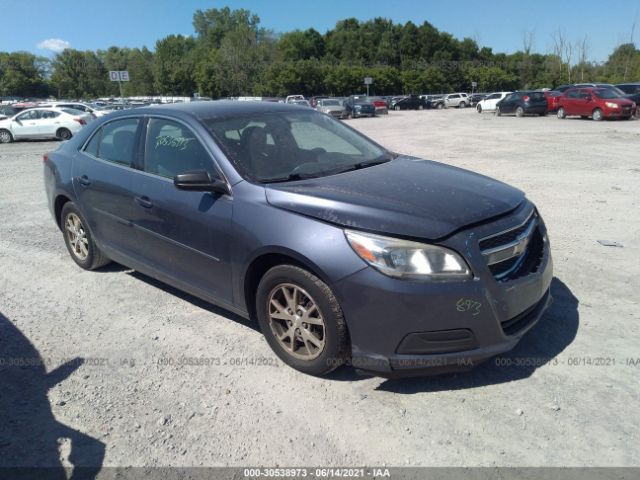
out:
{"label": "dark blue hood of the foreground sedan", "polygon": [[505,214],[524,193],[460,168],[412,157],[266,186],[267,201],[340,226],[436,240]]}

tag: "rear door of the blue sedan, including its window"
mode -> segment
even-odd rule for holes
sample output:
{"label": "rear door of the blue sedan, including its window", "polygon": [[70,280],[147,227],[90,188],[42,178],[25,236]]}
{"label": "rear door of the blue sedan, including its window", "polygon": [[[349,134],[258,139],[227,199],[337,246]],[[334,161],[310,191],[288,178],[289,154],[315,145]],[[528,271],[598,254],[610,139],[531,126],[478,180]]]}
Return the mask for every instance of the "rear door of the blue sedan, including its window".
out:
{"label": "rear door of the blue sedan, including its window", "polygon": [[138,256],[131,223],[132,181],[142,119],[105,123],[75,156],[73,187],[94,237],[107,250]]}

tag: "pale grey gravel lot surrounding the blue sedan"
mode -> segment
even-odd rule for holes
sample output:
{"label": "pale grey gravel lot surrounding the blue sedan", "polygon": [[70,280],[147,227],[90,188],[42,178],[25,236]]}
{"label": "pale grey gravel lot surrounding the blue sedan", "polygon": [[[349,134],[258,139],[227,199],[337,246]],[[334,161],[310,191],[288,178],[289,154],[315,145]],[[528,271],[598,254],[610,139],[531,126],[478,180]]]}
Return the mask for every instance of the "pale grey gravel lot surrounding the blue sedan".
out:
{"label": "pale grey gravel lot surrounding the blue sedan", "polygon": [[349,123],[538,205],[556,301],[516,350],[444,377],[304,376],[233,314],[116,265],[76,267],[43,192],[56,144],[2,145],[0,357],[49,375],[0,365],[0,465],[640,465],[640,121]]}

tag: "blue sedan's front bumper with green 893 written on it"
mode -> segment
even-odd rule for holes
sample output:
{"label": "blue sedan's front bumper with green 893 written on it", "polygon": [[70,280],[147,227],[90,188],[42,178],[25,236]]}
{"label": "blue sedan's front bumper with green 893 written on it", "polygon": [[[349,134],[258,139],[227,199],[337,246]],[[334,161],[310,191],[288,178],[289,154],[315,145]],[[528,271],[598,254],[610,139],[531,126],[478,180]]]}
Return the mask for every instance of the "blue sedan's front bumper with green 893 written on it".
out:
{"label": "blue sedan's front bumper with green 893 written on it", "polygon": [[[529,204],[529,214],[530,208]],[[520,210],[489,227],[447,240],[447,246],[465,256],[473,279],[398,280],[367,267],[337,282],[353,366],[388,377],[438,374],[467,370],[511,350],[551,301],[553,266],[548,241],[535,273],[498,282],[476,240],[487,232],[500,231],[501,222],[508,228],[518,218],[524,219],[525,209]],[[541,220],[539,228],[544,230]]]}

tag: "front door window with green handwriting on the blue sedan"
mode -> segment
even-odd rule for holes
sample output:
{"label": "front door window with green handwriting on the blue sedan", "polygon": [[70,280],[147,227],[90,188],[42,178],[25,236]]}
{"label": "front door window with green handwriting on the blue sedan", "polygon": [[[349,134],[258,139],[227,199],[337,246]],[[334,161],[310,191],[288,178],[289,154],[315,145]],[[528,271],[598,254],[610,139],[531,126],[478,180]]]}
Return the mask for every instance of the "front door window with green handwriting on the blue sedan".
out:
{"label": "front door window with green handwriting on the blue sedan", "polygon": [[144,170],[166,178],[190,170],[205,170],[218,177],[211,157],[193,132],[160,118],[152,118],[147,126]]}

